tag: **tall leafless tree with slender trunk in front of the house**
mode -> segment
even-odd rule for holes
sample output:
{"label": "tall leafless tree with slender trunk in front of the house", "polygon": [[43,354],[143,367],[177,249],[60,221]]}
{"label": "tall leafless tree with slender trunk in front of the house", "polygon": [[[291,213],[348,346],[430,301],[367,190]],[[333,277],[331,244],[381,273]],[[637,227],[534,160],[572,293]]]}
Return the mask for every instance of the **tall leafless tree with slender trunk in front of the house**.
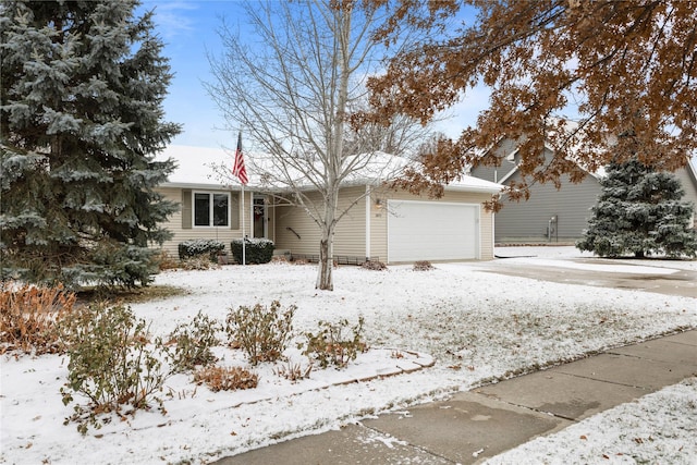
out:
{"label": "tall leafless tree with slender trunk in front of the house", "polygon": [[[364,81],[384,51],[370,37],[384,17],[364,7],[334,0],[247,3],[254,34],[243,36],[223,21],[224,54],[209,57],[216,77],[207,84],[209,94],[230,127],[242,129],[256,152],[265,154],[248,164],[269,193],[290,193],[285,200],[303,206],[321,230],[316,283],[321,290],[333,290],[334,230],[347,212],[339,209],[340,187],[367,169],[376,179],[395,175],[393,169],[403,163],[379,166],[377,150],[401,155],[418,134],[386,131],[383,123],[350,125],[352,108],[367,101]],[[309,199],[310,191],[320,194],[319,204]]]}

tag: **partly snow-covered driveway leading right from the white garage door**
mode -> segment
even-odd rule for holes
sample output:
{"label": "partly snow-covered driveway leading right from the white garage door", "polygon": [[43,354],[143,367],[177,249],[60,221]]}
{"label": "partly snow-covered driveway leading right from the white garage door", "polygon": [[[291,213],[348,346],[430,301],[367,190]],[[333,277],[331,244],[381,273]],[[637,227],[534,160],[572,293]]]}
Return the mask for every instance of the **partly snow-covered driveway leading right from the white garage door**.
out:
{"label": "partly snow-covered driveway leading right from the white garage door", "polygon": [[697,261],[545,257],[535,252],[497,249],[501,258],[478,265],[482,271],[540,281],[697,298]]}

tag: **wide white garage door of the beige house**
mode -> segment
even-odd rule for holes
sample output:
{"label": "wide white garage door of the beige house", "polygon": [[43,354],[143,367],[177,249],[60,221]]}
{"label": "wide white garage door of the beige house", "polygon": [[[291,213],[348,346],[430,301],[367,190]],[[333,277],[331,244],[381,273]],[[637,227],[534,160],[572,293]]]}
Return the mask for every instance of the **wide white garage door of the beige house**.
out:
{"label": "wide white garage door of the beige house", "polygon": [[478,258],[479,206],[388,201],[388,261]]}

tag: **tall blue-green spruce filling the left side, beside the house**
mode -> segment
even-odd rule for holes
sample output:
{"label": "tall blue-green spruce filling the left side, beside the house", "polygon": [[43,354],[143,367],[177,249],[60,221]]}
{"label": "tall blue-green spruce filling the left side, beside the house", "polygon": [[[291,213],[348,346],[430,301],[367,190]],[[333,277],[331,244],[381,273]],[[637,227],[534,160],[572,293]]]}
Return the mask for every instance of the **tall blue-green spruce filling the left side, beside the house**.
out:
{"label": "tall blue-green spruce filling the left side, beside the house", "polygon": [[0,276],[136,286],[175,211],[154,187],[171,73],[137,0],[3,1]]}

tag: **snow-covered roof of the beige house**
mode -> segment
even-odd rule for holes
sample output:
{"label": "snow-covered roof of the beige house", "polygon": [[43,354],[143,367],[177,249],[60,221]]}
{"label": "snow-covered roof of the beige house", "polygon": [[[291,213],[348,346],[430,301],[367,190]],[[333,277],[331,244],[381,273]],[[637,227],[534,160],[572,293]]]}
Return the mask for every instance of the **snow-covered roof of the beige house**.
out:
{"label": "snow-covered roof of the beige house", "polygon": [[[178,167],[170,174],[168,182],[162,183],[166,187],[184,188],[240,188],[240,184],[231,174],[229,169],[234,161],[234,151],[224,148],[191,147],[191,146],[168,146],[156,156],[157,160],[172,158]],[[249,176],[249,186],[267,186],[262,183],[262,176],[256,167],[266,164],[265,159],[269,157],[245,154],[245,163]],[[395,157],[390,154],[372,154],[367,162],[359,163],[355,172],[344,180],[345,185],[375,184],[389,179],[394,179],[413,161]],[[229,169],[227,168],[229,167]],[[297,172],[297,180],[303,180],[304,173]],[[449,191],[499,193],[503,186],[478,178],[464,175],[461,180],[445,186]]]}

